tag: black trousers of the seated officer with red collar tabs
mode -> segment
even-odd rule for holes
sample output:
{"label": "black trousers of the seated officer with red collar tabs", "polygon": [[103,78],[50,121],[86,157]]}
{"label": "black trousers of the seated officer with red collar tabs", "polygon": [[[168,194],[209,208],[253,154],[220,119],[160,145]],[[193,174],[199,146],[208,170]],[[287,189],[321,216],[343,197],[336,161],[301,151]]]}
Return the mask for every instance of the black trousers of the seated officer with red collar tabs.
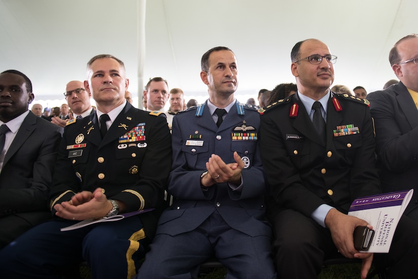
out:
{"label": "black trousers of the seated officer with red collar tabs", "polygon": [[[274,264],[279,278],[316,278],[325,258],[337,249],[331,234],[312,218],[284,210],[272,220]],[[418,278],[418,223],[403,216],[387,254],[374,254],[373,263],[388,269],[390,278]],[[360,275],[360,274],[359,274]]]}

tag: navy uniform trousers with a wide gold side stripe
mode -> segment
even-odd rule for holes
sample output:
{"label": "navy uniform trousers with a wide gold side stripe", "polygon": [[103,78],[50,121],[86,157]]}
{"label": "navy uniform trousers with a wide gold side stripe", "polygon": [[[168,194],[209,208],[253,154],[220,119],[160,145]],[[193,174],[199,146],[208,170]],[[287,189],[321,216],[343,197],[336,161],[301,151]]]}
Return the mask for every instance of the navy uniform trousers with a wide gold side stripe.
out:
{"label": "navy uniform trousers with a wide gold side stripe", "polygon": [[93,278],[131,278],[148,240],[138,216],[60,231],[74,221],[53,220],[27,231],[0,251],[2,278],[61,278],[87,261]]}

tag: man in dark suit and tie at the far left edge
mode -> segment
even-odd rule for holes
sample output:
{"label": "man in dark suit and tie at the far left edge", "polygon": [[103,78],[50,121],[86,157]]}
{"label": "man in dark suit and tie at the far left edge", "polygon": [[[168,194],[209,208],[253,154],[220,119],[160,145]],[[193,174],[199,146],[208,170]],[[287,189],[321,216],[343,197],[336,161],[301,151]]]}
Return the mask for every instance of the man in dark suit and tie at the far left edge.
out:
{"label": "man in dark suit and tie at the far left edge", "polygon": [[51,219],[47,199],[61,134],[28,110],[33,98],[24,74],[0,74],[0,125],[8,127],[0,132],[0,249]]}

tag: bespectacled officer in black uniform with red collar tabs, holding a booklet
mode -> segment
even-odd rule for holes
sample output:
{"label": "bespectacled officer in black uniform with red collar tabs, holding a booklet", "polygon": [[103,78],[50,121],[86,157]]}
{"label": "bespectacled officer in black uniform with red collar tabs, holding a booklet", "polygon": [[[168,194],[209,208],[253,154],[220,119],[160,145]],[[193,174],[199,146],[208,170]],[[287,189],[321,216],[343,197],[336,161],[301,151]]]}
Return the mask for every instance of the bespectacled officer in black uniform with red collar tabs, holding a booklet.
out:
{"label": "bespectacled officer in black uniform with red collar tabs, holding a booklet", "polygon": [[[362,259],[365,278],[373,254],[354,248],[353,232],[357,226],[372,227],[347,212],[355,198],[381,193],[368,101],[329,89],[337,57],[321,41],[297,43],[291,59],[297,93],[259,110],[278,277],[316,278],[324,258],[336,257],[339,251]],[[353,125],[353,133],[336,136],[334,130],[344,125]],[[391,265],[393,278],[418,276],[412,264],[418,258],[418,224],[407,219],[399,221],[390,263],[383,262],[387,254],[374,256],[385,267]],[[410,249],[406,243],[411,243]]]}

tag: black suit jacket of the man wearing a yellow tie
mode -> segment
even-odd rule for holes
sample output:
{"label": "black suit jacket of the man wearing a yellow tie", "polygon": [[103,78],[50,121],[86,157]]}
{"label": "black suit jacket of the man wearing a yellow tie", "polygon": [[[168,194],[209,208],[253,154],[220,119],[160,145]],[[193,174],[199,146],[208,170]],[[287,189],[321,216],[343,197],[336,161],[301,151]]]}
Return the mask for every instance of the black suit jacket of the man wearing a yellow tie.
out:
{"label": "black suit jacket of the man wearing a yellow tie", "polygon": [[418,110],[405,85],[367,95],[376,130],[377,166],[382,189],[393,192],[414,189],[405,213],[418,206]]}

